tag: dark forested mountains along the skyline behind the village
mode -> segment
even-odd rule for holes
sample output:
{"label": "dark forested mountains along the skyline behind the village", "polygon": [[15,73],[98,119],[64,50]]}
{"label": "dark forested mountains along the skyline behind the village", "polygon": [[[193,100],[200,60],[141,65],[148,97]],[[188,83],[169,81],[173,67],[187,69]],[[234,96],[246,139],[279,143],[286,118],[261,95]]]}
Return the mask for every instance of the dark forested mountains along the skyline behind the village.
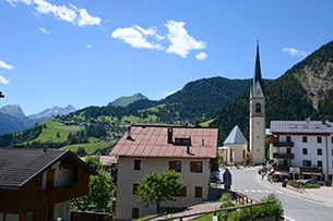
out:
{"label": "dark forested mountains along the skyline behind the village", "polygon": [[[264,73],[262,73],[264,77]],[[224,77],[202,78],[190,82],[177,93],[159,101],[148,100],[142,94],[129,97],[120,97],[107,107],[87,107],[75,111],[69,108],[67,113],[85,112],[85,115],[105,114],[120,107],[123,114],[142,115],[148,110],[153,113],[153,107],[159,112],[159,123],[202,122],[212,120],[211,126],[219,127],[222,134],[228,134],[231,127],[239,125],[245,134],[248,134],[249,116],[249,87],[251,79],[228,79]],[[271,120],[304,120],[308,116],[322,119],[333,116],[333,41],[309,54],[305,60],[287,70],[276,79],[264,79],[266,98],[266,126]],[[70,106],[69,106],[70,107]],[[2,109],[2,108],[1,108]],[[38,122],[60,114],[60,110],[47,109],[31,116],[22,115],[22,110],[2,111],[0,109],[0,134],[3,127],[17,130],[26,122]],[[61,108],[60,108],[61,109]],[[15,109],[14,109],[15,110]],[[73,112],[75,111],[75,112]],[[119,110],[117,110],[119,112]],[[139,111],[139,112],[138,112]],[[15,114],[13,114],[15,112]],[[44,114],[43,114],[44,113]],[[49,114],[47,114],[49,113]],[[168,114],[168,118],[166,115]],[[173,115],[174,114],[174,115]],[[15,119],[11,118],[15,115]],[[27,119],[26,119],[27,118]],[[3,124],[3,122],[7,122]],[[7,126],[3,126],[7,125]],[[223,137],[223,136],[221,136]]]}

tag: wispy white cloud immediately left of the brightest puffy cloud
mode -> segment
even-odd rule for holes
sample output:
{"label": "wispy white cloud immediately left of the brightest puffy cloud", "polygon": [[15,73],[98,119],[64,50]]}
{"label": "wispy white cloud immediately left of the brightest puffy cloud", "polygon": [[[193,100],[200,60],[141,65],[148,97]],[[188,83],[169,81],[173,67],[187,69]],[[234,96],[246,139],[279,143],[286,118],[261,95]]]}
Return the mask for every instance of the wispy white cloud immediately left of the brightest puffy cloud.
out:
{"label": "wispy white cloud immediately left of the brightest puffy cloud", "polygon": [[144,29],[139,25],[133,27],[117,28],[111,33],[112,38],[120,39],[133,48],[147,48],[162,50],[163,46],[154,41],[148,41],[147,38],[151,36],[153,38],[163,39],[162,36],[156,34],[155,27]]}

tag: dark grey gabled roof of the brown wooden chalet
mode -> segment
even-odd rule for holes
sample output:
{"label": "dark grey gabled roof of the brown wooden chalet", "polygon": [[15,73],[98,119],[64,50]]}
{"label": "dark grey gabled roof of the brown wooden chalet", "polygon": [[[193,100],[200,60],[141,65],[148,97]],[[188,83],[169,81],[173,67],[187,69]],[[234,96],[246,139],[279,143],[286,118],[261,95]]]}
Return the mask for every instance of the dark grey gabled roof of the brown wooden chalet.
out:
{"label": "dark grey gabled roof of the brown wooden chalet", "polygon": [[[76,163],[85,164],[69,150],[0,148],[0,187],[20,188],[49,167],[70,156]],[[84,165],[93,171],[88,165]]]}

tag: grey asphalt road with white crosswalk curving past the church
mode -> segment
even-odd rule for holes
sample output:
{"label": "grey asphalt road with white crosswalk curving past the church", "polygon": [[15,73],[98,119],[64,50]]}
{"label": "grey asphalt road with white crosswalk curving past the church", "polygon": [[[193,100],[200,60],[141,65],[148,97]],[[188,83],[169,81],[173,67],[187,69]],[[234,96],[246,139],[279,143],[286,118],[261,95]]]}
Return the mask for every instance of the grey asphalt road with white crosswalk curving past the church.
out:
{"label": "grey asphalt road with white crosswalk curving past the church", "polygon": [[[305,197],[289,188],[282,187],[281,183],[271,183],[261,180],[258,168],[229,169],[231,173],[231,191],[245,194],[252,199],[260,200],[269,194],[276,194],[281,199],[286,220],[290,221],[332,221],[333,205],[313,198]],[[221,169],[223,177],[224,170]]]}

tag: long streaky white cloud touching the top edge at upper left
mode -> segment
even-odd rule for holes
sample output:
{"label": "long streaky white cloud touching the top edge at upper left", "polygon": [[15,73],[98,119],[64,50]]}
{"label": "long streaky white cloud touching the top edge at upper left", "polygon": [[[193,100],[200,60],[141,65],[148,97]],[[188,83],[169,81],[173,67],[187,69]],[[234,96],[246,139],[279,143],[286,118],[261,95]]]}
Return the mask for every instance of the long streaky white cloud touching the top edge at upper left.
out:
{"label": "long streaky white cloud touching the top edge at upper left", "polygon": [[45,0],[7,0],[11,5],[15,7],[19,2],[26,5],[35,5],[37,13],[53,14],[58,20],[66,21],[79,26],[99,25],[102,19],[92,16],[86,9],[78,9],[73,4],[67,5],[51,4]]}

